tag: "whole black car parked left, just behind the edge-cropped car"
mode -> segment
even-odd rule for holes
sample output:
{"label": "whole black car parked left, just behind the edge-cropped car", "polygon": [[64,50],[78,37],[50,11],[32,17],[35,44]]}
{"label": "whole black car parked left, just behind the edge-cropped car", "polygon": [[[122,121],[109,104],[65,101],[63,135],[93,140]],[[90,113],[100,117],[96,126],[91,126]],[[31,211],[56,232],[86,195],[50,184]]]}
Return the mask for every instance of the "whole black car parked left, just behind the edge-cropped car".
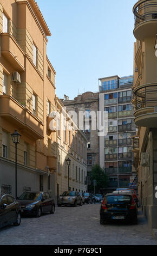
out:
{"label": "whole black car parked left, just behind the edge-cropped car", "polygon": [[22,215],[40,217],[45,212],[55,212],[55,202],[50,192],[24,192],[18,202],[21,204]]}

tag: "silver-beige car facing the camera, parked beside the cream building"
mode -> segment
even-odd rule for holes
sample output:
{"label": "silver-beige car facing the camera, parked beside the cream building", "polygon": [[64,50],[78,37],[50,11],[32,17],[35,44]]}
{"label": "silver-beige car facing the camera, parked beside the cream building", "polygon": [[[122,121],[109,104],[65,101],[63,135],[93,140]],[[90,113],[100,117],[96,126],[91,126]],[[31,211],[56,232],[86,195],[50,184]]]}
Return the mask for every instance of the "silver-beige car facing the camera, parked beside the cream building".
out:
{"label": "silver-beige car facing the camera, parked beside the cream building", "polygon": [[58,198],[58,206],[61,205],[74,205],[79,204],[82,206],[82,198],[77,191],[64,191]]}

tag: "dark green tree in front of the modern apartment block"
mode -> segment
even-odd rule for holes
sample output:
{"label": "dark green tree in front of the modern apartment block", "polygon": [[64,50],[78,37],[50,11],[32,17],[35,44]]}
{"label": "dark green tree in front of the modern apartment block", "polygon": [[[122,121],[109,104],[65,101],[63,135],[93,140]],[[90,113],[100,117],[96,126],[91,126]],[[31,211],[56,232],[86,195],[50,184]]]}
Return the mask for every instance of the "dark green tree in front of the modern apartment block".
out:
{"label": "dark green tree in front of the modern apartment block", "polygon": [[99,164],[95,164],[91,167],[91,171],[88,173],[90,177],[91,185],[88,189],[90,192],[94,192],[94,180],[96,180],[95,192],[99,193],[100,188],[105,188],[108,185],[108,176],[104,173],[104,169]]}

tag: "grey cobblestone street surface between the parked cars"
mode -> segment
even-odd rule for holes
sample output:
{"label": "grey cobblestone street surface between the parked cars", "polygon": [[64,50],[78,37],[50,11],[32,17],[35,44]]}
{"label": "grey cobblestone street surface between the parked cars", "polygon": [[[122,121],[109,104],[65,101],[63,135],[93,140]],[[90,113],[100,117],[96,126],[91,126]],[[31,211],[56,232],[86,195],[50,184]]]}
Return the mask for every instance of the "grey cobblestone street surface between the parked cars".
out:
{"label": "grey cobblestone street surface between the parked cars", "polygon": [[100,204],[56,207],[55,214],[24,217],[0,229],[0,245],[157,245],[139,211],[139,224],[100,225]]}

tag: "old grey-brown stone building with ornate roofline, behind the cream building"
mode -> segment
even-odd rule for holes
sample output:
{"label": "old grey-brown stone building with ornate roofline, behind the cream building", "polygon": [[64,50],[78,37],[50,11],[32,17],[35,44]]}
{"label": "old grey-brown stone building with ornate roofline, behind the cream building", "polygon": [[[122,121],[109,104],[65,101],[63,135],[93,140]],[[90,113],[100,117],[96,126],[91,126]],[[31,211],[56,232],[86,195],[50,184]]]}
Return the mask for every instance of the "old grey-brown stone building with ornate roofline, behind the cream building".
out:
{"label": "old grey-brown stone building with ornate roofline, behind the cream building", "polygon": [[[91,166],[99,164],[99,137],[96,129],[92,129],[91,121],[97,120],[97,111],[99,111],[99,93],[86,92],[78,95],[74,100],[69,100],[65,95],[63,101],[68,111],[74,111],[77,114],[77,123],[80,125],[80,117],[83,117],[83,127],[80,129],[87,137],[87,170],[91,170]],[[83,113],[82,113],[83,112]],[[79,113],[82,113],[79,115]]]}

